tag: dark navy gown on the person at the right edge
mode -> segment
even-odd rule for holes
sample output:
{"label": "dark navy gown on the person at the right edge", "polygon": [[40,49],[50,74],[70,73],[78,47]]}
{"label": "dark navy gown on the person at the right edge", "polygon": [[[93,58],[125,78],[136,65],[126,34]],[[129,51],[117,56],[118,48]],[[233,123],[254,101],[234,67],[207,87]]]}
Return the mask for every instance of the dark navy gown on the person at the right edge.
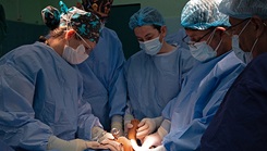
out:
{"label": "dark navy gown on the person at the right edge", "polygon": [[267,53],[233,83],[202,138],[204,151],[267,151]]}

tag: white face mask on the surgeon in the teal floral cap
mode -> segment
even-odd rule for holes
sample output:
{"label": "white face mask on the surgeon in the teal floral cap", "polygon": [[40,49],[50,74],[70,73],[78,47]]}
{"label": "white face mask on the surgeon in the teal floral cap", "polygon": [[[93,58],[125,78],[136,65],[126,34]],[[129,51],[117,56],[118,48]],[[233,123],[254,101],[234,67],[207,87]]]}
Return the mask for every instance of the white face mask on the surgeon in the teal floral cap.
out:
{"label": "white face mask on the surgeon in the teal floral cap", "polygon": [[76,49],[70,46],[65,46],[62,58],[71,64],[80,64],[84,62],[89,55],[85,52],[83,45],[80,45]]}

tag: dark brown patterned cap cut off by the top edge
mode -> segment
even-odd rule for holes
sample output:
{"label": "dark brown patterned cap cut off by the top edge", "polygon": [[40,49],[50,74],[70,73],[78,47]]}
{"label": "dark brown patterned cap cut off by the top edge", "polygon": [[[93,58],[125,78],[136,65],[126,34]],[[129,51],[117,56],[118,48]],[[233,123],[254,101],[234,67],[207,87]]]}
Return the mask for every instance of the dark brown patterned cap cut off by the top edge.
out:
{"label": "dark brown patterned cap cut off by the top edge", "polygon": [[109,16],[112,3],[113,0],[82,0],[82,5],[85,11],[93,11],[101,18]]}

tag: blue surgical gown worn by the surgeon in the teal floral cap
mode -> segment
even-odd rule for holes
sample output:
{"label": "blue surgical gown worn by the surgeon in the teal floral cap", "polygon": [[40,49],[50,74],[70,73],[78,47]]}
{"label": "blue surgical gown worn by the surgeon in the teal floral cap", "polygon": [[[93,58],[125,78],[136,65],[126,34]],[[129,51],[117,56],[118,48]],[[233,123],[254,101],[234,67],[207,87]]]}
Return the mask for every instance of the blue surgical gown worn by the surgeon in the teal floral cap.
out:
{"label": "blue surgical gown worn by the surgeon in the teal floral cap", "polygon": [[45,151],[48,139],[90,139],[100,126],[82,98],[82,76],[43,42],[22,46],[0,60],[0,140]]}

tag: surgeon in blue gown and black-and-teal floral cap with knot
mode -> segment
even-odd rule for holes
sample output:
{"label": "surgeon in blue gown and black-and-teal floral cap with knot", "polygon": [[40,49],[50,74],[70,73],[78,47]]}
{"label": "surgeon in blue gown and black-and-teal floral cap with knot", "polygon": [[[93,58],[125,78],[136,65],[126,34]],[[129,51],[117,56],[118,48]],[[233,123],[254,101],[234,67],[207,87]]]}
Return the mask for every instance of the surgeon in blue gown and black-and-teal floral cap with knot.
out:
{"label": "surgeon in blue gown and black-and-teal floral cap with knot", "polygon": [[[82,100],[76,64],[96,46],[99,18],[76,8],[41,11],[49,38],[0,60],[0,140],[15,150],[120,150]],[[92,141],[96,140],[96,141]]]}

